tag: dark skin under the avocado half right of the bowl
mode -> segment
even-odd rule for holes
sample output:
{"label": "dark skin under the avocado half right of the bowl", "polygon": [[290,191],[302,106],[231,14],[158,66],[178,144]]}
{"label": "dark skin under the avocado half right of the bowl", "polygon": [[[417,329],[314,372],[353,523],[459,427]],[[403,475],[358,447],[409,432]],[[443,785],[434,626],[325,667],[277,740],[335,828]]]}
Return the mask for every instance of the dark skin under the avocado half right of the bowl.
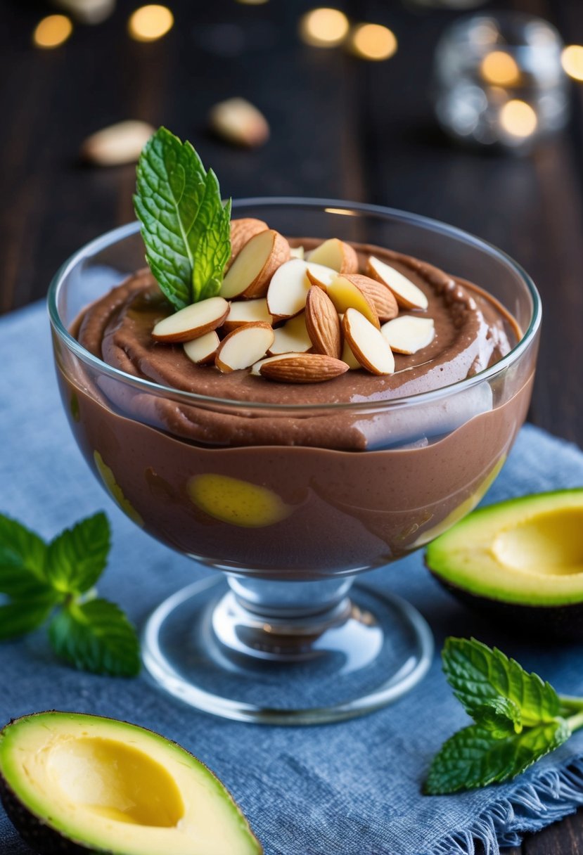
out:
{"label": "dark skin under the avocado half right of the bowl", "polygon": [[566,605],[522,605],[469,593],[465,588],[452,585],[427,569],[439,584],[483,617],[492,621],[504,632],[521,634],[533,640],[583,641],[583,603]]}

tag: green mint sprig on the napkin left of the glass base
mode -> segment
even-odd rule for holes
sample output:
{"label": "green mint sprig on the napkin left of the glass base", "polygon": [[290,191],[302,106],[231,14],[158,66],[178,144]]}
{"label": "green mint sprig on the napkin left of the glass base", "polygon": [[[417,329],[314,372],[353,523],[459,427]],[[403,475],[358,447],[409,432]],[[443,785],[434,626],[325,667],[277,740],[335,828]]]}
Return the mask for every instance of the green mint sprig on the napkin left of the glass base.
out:
{"label": "green mint sprig on the napkin left of the glass base", "polygon": [[139,644],[114,603],[96,598],[95,584],[110,547],[107,516],[97,513],[50,543],[0,515],[0,640],[38,629],[50,618],[57,656],[94,674],[138,674]]}

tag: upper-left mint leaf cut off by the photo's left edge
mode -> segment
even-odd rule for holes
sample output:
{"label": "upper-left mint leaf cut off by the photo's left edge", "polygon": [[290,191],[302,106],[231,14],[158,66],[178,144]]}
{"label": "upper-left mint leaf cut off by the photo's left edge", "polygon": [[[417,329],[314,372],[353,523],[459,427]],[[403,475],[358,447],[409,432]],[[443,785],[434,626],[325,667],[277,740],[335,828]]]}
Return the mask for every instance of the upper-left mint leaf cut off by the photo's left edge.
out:
{"label": "upper-left mint leaf cut off by the photo's left edge", "polygon": [[0,592],[26,599],[50,593],[44,540],[0,514]]}

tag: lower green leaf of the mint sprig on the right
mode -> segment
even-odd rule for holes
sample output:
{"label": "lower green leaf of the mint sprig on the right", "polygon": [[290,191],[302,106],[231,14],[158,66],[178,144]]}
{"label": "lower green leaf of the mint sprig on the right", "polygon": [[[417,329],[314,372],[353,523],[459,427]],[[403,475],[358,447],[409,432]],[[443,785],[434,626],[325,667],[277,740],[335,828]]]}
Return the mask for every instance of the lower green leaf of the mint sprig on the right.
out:
{"label": "lower green leaf of the mint sprig on the right", "polygon": [[425,792],[458,793],[509,781],[570,735],[571,728],[564,719],[539,724],[506,739],[497,739],[491,731],[472,724],[447,740],[433,758]]}

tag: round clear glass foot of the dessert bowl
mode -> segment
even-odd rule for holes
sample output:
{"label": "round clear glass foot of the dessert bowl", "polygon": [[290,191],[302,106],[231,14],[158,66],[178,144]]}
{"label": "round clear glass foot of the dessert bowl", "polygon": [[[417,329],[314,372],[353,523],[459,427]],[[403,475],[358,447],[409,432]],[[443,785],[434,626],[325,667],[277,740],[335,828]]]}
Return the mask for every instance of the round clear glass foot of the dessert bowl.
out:
{"label": "round clear glass foot of the dessert bowl", "polygon": [[221,615],[233,621],[236,611],[221,576],[197,581],[158,606],[144,629],[143,656],[163,690],[236,721],[337,722],[409,692],[433,657],[433,636],[419,612],[362,585],[350,590],[337,619],[321,628],[302,655],[282,650],[278,656],[274,646],[267,657],[260,650],[249,655],[244,646],[229,644]]}

